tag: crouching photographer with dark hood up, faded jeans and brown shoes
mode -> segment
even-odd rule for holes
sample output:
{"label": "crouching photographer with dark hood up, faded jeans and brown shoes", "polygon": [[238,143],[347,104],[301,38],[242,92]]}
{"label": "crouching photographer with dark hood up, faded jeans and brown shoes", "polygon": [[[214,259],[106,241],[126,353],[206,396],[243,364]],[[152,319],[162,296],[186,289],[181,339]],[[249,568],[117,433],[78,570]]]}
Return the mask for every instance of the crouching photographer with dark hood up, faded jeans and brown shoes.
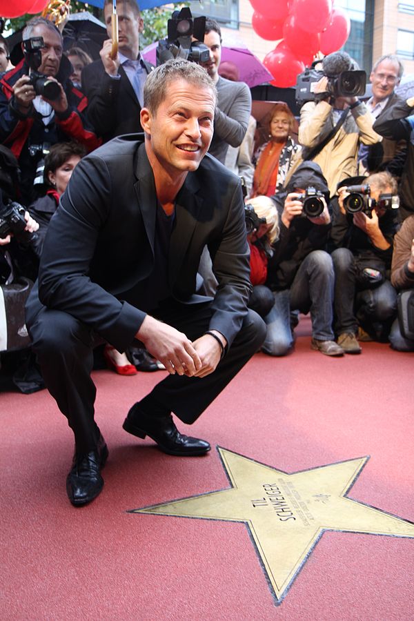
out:
{"label": "crouching photographer with dark hood up, faded jeans and brown shoes", "polygon": [[312,349],[342,356],[344,351],[333,340],[334,273],[325,251],[331,228],[329,190],[319,166],[311,161],[301,164],[274,199],[281,224],[268,262],[266,285],[273,291],[274,306],[264,317],[262,351],[273,356],[289,353],[294,344],[290,311],[310,311]]}

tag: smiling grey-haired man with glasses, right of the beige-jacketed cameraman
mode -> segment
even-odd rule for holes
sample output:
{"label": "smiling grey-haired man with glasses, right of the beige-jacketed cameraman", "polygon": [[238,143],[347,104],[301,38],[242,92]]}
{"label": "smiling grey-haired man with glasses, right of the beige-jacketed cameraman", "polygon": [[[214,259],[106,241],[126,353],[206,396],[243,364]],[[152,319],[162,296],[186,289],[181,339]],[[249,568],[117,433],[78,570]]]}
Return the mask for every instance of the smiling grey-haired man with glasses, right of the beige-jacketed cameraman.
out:
{"label": "smiling grey-haired man with glasses, right of the beige-jacketed cameraman", "polygon": [[[374,119],[382,119],[384,112],[392,108],[395,103],[402,101],[395,92],[400,84],[404,67],[395,54],[380,57],[374,64],[369,76],[372,85],[372,96],[366,101],[366,107]],[[368,175],[380,170],[398,174],[398,161],[404,156],[405,142],[396,142],[383,139],[373,145],[362,144],[359,147],[358,162],[359,175]]]}

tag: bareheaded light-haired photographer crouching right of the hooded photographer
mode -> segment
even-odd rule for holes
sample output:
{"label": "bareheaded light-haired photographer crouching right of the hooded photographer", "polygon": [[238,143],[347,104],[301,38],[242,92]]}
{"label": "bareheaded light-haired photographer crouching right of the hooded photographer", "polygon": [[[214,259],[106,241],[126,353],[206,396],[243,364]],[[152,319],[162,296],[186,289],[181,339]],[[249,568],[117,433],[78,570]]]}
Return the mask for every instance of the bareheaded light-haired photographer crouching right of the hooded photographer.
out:
{"label": "bareheaded light-haired photographer crouching right of the hooded photographer", "polygon": [[[351,184],[361,190],[347,201]],[[335,267],[335,333],[347,353],[360,353],[362,339],[386,342],[397,308],[397,294],[388,279],[397,230],[398,210],[388,206],[397,193],[389,172],[348,179],[332,201],[331,242]],[[367,333],[366,336],[364,333]],[[361,339],[361,338],[360,338]]]}

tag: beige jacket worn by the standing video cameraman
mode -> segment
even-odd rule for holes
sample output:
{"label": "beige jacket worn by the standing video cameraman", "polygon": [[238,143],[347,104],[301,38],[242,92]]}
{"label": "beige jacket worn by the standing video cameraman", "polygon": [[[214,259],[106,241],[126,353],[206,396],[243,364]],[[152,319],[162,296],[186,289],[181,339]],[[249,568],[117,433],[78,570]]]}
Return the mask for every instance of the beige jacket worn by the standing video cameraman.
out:
{"label": "beige jacket worn by the standing video cameraman", "polygon": [[[360,103],[349,111],[342,127],[313,159],[315,164],[319,164],[328,181],[331,196],[336,194],[339,181],[357,175],[359,141],[363,144],[375,144],[382,140],[373,130],[373,122],[371,112],[364,103]],[[298,138],[299,144],[305,148],[302,149],[301,161],[306,159],[306,152],[317,146],[334,126],[333,108],[327,101],[308,101],[302,106]],[[295,163],[295,168],[301,161]],[[291,174],[293,171],[289,172]]]}

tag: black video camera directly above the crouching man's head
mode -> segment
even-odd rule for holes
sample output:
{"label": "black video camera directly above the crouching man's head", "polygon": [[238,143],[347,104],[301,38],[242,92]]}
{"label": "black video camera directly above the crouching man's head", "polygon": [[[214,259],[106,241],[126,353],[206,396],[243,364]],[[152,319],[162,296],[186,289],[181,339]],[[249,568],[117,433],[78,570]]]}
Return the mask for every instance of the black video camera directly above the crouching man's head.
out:
{"label": "black video camera directly above the crouching man's head", "polygon": [[171,19],[168,19],[168,37],[158,42],[157,66],[173,58],[183,58],[194,63],[208,62],[210,50],[202,43],[205,28],[206,18],[193,19],[188,7],[174,11]]}

